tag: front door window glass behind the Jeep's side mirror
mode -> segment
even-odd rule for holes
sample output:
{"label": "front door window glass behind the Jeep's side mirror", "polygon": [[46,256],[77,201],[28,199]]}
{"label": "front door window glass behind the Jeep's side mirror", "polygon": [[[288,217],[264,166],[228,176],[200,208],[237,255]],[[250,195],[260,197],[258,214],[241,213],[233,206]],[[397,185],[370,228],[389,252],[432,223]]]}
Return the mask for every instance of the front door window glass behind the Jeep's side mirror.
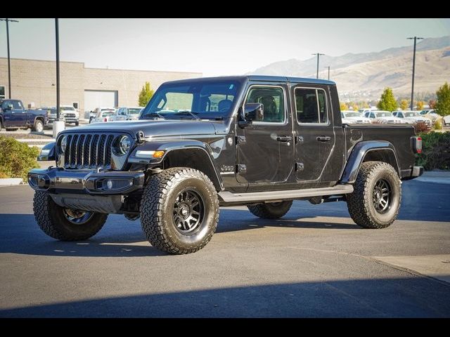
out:
{"label": "front door window glass behind the Jeep's side mirror", "polygon": [[285,120],[284,95],[282,88],[252,86],[245,103],[262,103],[264,119],[269,123],[283,123]]}

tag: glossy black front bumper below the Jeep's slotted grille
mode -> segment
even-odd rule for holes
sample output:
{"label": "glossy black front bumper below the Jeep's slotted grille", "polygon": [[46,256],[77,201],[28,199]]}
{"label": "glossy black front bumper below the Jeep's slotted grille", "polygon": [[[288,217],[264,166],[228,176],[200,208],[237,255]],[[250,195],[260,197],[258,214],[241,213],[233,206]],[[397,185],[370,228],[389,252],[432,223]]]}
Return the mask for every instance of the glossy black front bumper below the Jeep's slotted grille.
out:
{"label": "glossy black front bumper below the Jeep's slotted grille", "polygon": [[145,175],[129,171],[32,169],[28,183],[34,190],[71,194],[129,194],[143,189]]}

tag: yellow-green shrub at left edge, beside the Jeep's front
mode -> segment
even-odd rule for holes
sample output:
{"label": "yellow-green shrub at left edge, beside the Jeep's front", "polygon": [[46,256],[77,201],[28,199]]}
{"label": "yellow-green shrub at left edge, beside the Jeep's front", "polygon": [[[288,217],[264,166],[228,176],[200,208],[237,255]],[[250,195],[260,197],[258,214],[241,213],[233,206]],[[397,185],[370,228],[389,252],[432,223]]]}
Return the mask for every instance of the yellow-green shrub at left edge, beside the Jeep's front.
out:
{"label": "yellow-green shrub at left edge, beside the Jeep's front", "polygon": [[37,147],[0,136],[0,149],[0,176],[3,178],[23,178],[23,181],[27,181],[28,171],[39,167]]}

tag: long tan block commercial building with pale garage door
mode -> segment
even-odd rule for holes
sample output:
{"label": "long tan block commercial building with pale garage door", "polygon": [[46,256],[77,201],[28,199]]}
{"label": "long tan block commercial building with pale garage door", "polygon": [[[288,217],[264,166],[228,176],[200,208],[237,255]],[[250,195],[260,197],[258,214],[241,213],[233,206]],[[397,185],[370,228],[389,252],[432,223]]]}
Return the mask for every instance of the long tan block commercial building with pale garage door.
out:
{"label": "long tan block commercial building with pale garage door", "polygon": [[[137,106],[145,82],[155,90],[165,81],[202,77],[200,72],[155,72],[86,68],[82,62],[60,62],[60,103],[80,112],[100,106]],[[11,59],[11,95],[25,106],[56,106],[56,64]],[[0,98],[8,98],[8,59],[0,58]]]}

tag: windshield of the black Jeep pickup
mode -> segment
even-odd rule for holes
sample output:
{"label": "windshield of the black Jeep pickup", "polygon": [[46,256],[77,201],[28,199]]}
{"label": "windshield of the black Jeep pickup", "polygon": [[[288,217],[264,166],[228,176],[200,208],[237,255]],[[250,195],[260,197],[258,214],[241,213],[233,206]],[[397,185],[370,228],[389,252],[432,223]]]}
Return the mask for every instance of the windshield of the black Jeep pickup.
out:
{"label": "windshield of the black Jeep pickup", "polygon": [[191,81],[165,84],[144,108],[141,118],[195,119],[229,117],[238,94],[237,81]]}

